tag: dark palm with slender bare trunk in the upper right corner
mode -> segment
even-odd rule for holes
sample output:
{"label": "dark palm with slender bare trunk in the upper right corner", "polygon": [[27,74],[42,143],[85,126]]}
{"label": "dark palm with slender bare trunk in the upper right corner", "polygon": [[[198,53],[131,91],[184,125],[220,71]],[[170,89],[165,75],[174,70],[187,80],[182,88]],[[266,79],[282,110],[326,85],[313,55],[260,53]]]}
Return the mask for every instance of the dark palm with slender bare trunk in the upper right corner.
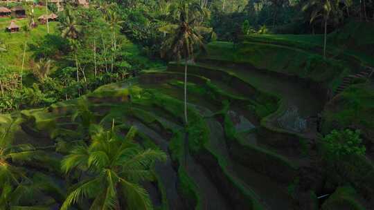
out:
{"label": "dark palm with slender bare trunk in the upper right corner", "polygon": [[328,21],[332,20],[337,23],[341,18],[341,10],[339,9],[338,0],[310,0],[305,4],[303,10],[312,10],[310,13],[310,23],[313,23],[317,18],[323,18],[324,38],[323,38],[323,57],[326,58],[327,45],[327,25]]}

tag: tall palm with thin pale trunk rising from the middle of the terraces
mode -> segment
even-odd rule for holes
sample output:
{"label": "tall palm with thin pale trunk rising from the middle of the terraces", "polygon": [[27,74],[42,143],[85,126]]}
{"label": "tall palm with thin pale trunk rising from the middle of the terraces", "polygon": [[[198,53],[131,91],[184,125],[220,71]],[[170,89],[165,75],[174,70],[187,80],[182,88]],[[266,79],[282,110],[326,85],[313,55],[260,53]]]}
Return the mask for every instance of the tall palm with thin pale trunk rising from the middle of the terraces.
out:
{"label": "tall palm with thin pale trunk rising from the middle of the terraces", "polygon": [[159,28],[168,37],[161,46],[161,57],[172,57],[178,61],[183,57],[184,61],[184,120],[188,124],[187,117],[187,67],[188,60],[193,60],[194,47],[204,49],[203,33],[213,32],[211,28],[201,26],[198,21],[199,11],[193,3],[183,0],[177,7],[177,20]]}

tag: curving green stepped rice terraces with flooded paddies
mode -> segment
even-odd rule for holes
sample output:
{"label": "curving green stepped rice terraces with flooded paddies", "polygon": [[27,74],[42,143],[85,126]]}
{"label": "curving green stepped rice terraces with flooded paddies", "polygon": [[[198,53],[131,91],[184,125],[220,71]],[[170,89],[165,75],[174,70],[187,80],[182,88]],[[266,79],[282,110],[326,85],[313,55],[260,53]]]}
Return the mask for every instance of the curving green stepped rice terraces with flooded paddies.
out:
{"label": "curving green stepped rice terraces with flooded paddies", "polygon": [[[314,93],[253,69],[199,63],[189,70],[189,124],[184,126],[179,70],[170,64],[168,70],[144,71],[80,99],[3,116],[2,124],[19,126],[17,143],[31,142],[46,157],[26,164],[52,180],[41,198],[60,195],[40,205],[53,209],[66,196],[64,183],[71,180],[64,179],[59,162],[80,142],[82,122],[71,115],[87,104],[96,123],[114,124],[124,133],[135,126],[139,143],[168,153],[168,161],[157,164],[154,182],[144,183],[159,209],[301,209],[299,196],[308,192],[296,195],[292,189],[301,168],[313,160],[306,148],[315,127],[289,131],[277,119],[288,106],[285,101],[300,108],[301,117],[317,114],[321,104]],[[310,100],[317,102],[305,109]]]}

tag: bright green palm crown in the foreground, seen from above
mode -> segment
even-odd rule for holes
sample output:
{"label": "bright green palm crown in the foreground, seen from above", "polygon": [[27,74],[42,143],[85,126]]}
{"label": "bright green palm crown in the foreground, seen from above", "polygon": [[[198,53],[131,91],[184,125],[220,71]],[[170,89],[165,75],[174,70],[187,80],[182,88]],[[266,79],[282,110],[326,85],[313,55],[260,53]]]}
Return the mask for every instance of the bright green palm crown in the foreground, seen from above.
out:
{"label": "bright green palm crown in the foreground, seen from above", "polygon": [[114,130],[98,128],[89,146],[78,146],[62,160],[65,173],[73,169],[86,172],[67,196],[62,210],[83,198],[93,199],[91,209],[152,209],[149,195],[139,182],[152,178],[154,162],[166,160],[166,154],[141,149],[133,142],[134,128],[125,139]]}

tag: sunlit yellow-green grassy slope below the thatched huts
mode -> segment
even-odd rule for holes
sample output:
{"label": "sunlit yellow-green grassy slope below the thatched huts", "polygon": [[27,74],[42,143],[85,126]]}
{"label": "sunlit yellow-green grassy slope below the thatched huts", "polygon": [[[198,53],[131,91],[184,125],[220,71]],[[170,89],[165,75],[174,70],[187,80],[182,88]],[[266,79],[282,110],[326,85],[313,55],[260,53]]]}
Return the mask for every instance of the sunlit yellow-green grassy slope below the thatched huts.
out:
{"label": "sunlit yellow-green grassy slope below the thatched huts", "polygon": [[[37,17],[44,15],[46,10],[44,7],[35,8],[35,21],[37,22]],[[47,34],[46,25],[38,25],[30,32],[24,30],[24,26],[27,25],[28,19],[15,19],[15,23],[20,27],[20,32],[9,33],[6,32],[5,28],[10,24],[10,17],[0,18],[0,41],[6,44],[7,52],[0,53],[0,70],[2,68],[10,68],[10,70],[20,70],[22,66],[22,58],[24,53],[25,41],[29,44],[35,44],[35,41],[41,39]],[[57,22],[51,22],[49,24],[49,32],[54,33],[57,27]],[[30,61],[30,53],[28,53],[28,48],[26,48],[26,60],[25,68],[27,69]]]}

